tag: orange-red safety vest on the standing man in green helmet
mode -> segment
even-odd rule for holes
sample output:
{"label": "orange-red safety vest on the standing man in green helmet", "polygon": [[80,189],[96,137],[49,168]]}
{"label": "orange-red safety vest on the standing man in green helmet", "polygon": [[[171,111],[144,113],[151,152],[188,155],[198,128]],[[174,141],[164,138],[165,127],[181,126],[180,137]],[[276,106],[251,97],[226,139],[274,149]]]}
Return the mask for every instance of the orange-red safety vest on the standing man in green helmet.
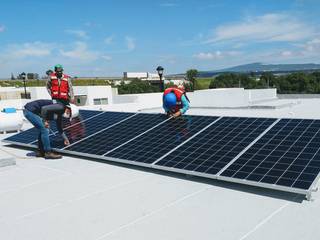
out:
{"label": "orange-red safety vest on the standing man in green helmet", "polygon": [[69,76],[66,74],[62,74],[62,78],[57,78],[56,73],[52,73],[50,75],[51,80],[51,97],[53,99],[62,99],[68,100],[69,99],[69,83],[68,83]]}

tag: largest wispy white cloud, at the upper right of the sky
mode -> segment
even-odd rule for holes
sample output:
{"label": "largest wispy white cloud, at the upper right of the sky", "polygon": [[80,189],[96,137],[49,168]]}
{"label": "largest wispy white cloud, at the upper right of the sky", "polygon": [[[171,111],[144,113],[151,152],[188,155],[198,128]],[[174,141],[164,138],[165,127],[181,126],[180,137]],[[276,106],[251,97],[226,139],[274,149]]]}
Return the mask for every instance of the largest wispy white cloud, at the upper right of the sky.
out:
{"label": "largest wispy white cloud, at the upper right of the sky", "polygon": [[308,39],[315,29],[288,14],[266,14],[221,25],[205,43],[221,41],[294,42]]}

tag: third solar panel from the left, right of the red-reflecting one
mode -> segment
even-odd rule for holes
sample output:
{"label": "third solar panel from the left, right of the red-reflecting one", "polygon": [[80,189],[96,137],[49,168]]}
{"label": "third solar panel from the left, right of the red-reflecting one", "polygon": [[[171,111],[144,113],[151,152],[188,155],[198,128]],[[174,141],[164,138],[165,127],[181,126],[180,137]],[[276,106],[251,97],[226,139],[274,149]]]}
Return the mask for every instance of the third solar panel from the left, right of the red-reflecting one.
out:
{"label": "third solar panel from the left, right of the red-reflecting one", "polygon": [[139,134],[142,134],[166,119],[167,117],[164,114],[139,113],[112,128],[108,128],[84,141],[80,141],[75,145],[67,147],[65,150],[100,156]]}

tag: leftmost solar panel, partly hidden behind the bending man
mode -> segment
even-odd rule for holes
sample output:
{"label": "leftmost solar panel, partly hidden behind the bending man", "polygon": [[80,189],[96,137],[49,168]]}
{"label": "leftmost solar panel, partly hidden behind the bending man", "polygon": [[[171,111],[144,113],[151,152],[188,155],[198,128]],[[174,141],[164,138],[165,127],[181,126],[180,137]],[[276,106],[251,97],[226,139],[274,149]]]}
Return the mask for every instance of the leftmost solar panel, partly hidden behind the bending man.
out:
{"label": "leftmost solar panel, partly hidden behind the bending man", "polygon": [[[89,117],[92,117],[96,114],[99,114],[99,113],[100,113],[99,111],[80,110],[79,117],[77,117],[75,120],[83,121],[83,120],[85,120]],[[64,121],[64,127],[69,126],[70,123],[68,123],[68,122],[69,121]],[[51,121],[50,128],[53,132],[57,131],[55,121]],[[6,138],[5,141],[23,143],[23,144],[31,144],[32,142],[36,141],[37,139],[38,139],[38,130],[36,128],[30,128],[26,131],[19,133],[19,134],[16,134],[16,135],[13,135],[11,137]]]}

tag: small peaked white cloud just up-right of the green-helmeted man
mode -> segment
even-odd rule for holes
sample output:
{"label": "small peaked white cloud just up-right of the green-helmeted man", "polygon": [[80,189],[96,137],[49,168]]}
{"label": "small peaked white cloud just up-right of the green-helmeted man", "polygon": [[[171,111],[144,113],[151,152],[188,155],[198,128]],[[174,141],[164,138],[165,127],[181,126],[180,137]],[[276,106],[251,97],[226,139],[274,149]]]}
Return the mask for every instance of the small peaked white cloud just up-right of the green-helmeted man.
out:
{"label": "small peaked white cloud just up-right of the green-helmeted man", "polygon": [[88,50],[85,42],[76,42],[73,50],[64,51],[60,50],[60,54],[64,57],[73,58],[81,61],[94,61],[99,58],[99,53]]}

